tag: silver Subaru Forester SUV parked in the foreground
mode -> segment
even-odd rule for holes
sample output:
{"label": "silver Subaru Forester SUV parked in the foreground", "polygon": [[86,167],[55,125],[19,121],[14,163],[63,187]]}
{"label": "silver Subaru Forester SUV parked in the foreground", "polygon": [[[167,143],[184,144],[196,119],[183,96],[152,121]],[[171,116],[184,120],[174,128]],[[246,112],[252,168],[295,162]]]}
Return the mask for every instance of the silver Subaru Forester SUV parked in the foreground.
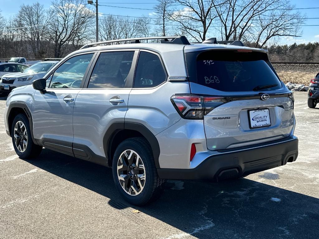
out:
{"label": "silver Subaru Forester SUV parked in the foreground", "polygon": [[266,50],[124,39],[85,45],[14,89],[5,127],[20,158],[45,147],[111,167],[124,199],[143,205],[165,179],[220,181],[295,161],[293,101]]}

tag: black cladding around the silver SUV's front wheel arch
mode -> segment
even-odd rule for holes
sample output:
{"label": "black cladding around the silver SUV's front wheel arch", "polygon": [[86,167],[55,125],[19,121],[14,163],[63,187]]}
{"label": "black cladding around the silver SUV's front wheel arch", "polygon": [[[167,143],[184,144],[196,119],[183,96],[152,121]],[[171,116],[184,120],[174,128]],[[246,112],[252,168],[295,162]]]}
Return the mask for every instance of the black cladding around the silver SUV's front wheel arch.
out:
{"label": "black cladding around the silver SUV's front wheel arch", "polygon": [[7,120],[8,120],[10,135],[11,135],[12,122],[13,122],[14,118],[20,113],[24,114],[26,116],[26,118],[29,120],[31,138],[32,138],[33,143],[37,144],[37,142],[34,140],[34,137],[33,137],[33,123],[32,123],[31,112],[30,112],[29,108],[23,103],[11,103],[9,105]]}

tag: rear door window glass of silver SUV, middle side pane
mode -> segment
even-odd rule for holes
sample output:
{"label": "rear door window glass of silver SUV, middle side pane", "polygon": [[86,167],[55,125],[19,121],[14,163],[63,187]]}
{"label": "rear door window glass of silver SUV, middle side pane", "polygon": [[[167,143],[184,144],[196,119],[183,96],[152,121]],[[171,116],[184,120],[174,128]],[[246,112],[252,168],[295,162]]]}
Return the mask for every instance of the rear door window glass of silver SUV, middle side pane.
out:
{"label": "rear door window glass of silver SUV, middle side pane", "polygon": [[130,72],[134,51],[102,52],[88,88],[123,88]]}

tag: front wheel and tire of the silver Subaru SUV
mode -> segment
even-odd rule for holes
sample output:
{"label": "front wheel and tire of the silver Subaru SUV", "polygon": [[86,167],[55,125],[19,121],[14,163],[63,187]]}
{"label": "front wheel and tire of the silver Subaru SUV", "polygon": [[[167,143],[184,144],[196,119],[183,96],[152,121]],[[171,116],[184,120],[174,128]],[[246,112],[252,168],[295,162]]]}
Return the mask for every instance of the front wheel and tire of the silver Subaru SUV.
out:
{"label": "front wheel and tire of the silver Subaru SUV", "polygon": [[[42,146],[33,143],[29,120],[26,118],[24,114],[18,114],[14,118],[11,126],[11,138],[13,148],[16,151],[16,154],[19,156],[19,158],[35,158],[39,156],[39,154],[41,153]],[[20,139],[23,139],[24,141],[22,142]]]}

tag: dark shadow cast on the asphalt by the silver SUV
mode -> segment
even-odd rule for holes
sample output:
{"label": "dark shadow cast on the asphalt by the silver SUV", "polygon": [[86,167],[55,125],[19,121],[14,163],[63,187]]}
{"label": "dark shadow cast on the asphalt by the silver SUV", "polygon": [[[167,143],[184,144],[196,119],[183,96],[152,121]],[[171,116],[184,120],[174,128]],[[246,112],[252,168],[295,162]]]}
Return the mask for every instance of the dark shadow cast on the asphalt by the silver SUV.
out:
{"label": "dark shadow cast on the asphalt by the silver SUV", "polygon": [[26,162],[109,198],[114,208],[134,208],[179,229],[170,239],[318,238],[319,199],[246,178],[169,180],[158,200],[139,207],[121,199],[111,169],[48,149]]}

